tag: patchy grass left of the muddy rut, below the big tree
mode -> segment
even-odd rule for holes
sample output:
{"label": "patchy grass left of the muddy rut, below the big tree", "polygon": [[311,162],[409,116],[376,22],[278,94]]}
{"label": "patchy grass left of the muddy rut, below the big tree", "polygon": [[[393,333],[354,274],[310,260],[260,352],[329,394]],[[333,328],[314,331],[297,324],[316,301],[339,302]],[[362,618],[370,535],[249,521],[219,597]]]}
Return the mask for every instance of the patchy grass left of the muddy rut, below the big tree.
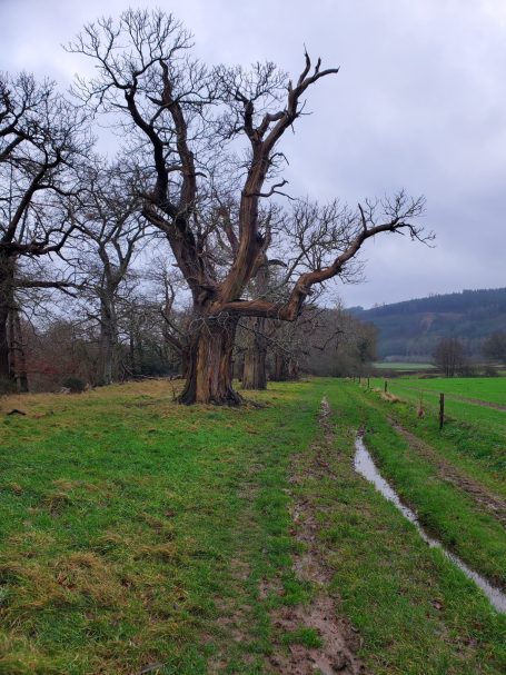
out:
{"label": "patchy grass left of the muddy rut, below the big tree", "polygon": [[[183,408],[163,385],[132,385],[27,398],[27,417],[4,418],[0,673],[205,673],[231,597],[251,605],[275,568],[298,598],[281,486],[318,400],[290,386],[264,398]],[[249,607],[236,652],[261,653],[266,613]]]}

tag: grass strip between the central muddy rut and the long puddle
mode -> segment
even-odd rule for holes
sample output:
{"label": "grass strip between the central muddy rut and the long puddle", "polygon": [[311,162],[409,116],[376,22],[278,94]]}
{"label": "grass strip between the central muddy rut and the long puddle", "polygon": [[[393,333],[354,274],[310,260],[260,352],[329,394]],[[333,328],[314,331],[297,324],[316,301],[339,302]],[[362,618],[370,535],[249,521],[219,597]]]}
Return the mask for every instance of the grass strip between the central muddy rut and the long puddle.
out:
{"label": "grass strip between the central muddy rut and the long puddle", "polygon": [[351,388],[328,383],[336,425],[328,477],[311,479],[306,455],[299,492],[319,509],[331,589],[364,638],[366,665],[377,675],[503,672],[506,617],[353,470],[366,411]]}

